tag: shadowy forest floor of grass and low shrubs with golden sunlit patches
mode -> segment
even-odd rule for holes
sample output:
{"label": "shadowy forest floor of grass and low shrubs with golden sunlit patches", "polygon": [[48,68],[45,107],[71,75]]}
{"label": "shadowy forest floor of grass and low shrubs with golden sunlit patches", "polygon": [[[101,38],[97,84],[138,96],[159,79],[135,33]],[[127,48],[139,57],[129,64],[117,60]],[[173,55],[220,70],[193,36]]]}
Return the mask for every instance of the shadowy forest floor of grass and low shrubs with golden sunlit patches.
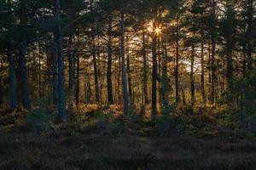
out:
{"label": "shadowy forest floor of grass and low shrubs with golden sunlit patches", "polygon": [[26,111],[3,113],[0,169],[255,169],[256,144],[236,133],[224,112],[184,117],[123,117],[114,106],[68,112],[67,123]]}

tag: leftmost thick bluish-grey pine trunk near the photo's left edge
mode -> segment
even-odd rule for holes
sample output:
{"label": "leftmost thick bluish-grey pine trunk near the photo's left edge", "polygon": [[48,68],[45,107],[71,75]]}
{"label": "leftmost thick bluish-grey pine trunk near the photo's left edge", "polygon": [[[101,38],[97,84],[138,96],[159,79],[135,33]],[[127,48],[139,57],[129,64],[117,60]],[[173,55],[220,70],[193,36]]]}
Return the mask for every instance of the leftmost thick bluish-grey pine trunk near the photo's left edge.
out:
{"label": "leftmost thick bluish-grey pine trunk near the photo's left edge", "polygon": [[[11,45],[13,46],[13,44]],[[16,82],[16,71],[15,71],[15,54],[14,48],[11,47],[9,50],[9,100],[10,109],[15,111],[17,109],[17,82]]]}

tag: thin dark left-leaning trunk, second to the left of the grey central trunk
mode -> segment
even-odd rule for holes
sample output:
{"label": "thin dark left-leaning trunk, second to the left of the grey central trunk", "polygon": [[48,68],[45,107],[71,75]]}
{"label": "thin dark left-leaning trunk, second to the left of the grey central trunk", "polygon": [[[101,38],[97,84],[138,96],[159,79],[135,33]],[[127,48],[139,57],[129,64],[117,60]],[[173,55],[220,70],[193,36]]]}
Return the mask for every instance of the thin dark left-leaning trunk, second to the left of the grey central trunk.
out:
{"label": "thin dark left-leaning trunk, second to the left of the grey central trunk", "polygon": [[96,103],[99,104],[100,103],[100,94],[99,94],[98,69],[97,69],[97,60],[96,60],[95,36],[92,37],[92,56],[93,56]]}

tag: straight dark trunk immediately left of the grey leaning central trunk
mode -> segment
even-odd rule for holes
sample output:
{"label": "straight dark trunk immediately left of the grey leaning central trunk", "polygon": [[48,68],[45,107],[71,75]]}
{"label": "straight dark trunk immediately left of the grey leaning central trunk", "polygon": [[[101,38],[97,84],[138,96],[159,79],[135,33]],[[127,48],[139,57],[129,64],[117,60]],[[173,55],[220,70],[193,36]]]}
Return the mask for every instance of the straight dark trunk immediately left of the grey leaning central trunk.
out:
{"label": "straight dark trunk immediately left of the grey leaning central trunk", "polygon": [[108,14],[108,105],[113,105],[113,88],[112,88],[112,14]]}

